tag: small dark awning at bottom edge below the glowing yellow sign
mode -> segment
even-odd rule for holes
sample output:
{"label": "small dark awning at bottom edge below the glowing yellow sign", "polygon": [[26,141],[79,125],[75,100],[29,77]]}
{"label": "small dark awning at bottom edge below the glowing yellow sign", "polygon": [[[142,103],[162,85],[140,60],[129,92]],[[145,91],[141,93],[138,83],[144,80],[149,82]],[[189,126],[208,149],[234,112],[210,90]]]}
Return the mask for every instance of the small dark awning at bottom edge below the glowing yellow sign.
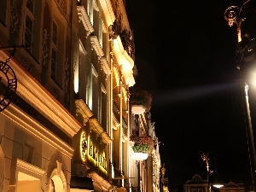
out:
{"label": "small dark awning at bottom edge below the glowing yellow sign", "polygon": [[93,182],[90,177],[85,176],[71,176],[70,179],[71,189],[88,189],[94,190]]}

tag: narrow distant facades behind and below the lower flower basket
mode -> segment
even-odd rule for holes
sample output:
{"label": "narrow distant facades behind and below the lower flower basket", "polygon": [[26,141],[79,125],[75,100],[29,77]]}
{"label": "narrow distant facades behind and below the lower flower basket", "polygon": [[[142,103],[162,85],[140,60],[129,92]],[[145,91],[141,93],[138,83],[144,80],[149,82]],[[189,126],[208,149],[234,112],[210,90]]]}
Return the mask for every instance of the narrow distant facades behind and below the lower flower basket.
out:
{"label": "narrow distant facades behind and below the lower flower basket", "polygon": [[[130,182],[132,187],[139,191],[160,192],[160,142],[155,135],[154,122],[151,121],[151,113],[139,115],[139,134],[146,134],[154,139],[154,149],[146,160],[133,160],[130,151]],[[131,132],[134,132],[134,117],[131,117]],[[132,150],[130,148],[130,150]],[[138,167],[139,166],[139,167]]]}

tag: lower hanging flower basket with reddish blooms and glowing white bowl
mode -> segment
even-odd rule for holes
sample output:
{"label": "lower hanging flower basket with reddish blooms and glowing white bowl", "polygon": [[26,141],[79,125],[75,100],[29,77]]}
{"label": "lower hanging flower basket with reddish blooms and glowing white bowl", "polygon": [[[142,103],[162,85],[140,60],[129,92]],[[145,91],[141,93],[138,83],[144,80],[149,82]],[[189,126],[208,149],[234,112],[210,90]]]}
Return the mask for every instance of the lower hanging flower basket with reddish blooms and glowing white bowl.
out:
{"label": "lower hanging flower basket with reddish blooms and glowing white bowl", "polygon": [[154,140],[145,134],[137,136],[132,134],[130,141],[134,143],[132,157],[135,160],[146,160],[154,148]]}

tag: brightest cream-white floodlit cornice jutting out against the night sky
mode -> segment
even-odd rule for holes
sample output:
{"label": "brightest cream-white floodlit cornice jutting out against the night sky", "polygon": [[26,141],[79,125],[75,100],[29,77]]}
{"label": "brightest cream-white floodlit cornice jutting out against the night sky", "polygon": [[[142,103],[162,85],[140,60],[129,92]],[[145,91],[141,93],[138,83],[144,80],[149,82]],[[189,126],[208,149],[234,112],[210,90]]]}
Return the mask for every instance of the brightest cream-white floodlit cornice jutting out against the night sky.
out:
{"label": "brightest cream-white floodlit cornice jutting out against the night sky", "polygon": [[125,84],[127,84],[129,87],[133,86],[135,84],[135,79],[133,77],[134,61],[124,49],[120,37],[113,39],[113,53],[119,66],[121,67],[121,72],[125,78]]}

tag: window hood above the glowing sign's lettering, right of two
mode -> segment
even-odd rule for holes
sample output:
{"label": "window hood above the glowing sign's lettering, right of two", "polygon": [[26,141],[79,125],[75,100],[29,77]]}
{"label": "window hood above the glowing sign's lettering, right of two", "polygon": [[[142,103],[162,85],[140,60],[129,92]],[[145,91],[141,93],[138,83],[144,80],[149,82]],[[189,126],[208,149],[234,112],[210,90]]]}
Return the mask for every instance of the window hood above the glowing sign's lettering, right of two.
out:
{"label": "window hood above the glowing sign's lettering, right of two", "polygon": [[96,133],[97,139],[99,139],[100,142],[105,144],[111,143],[111,138],[108,136],[108,133],[103,130],[102,125],[100,125],[95,118],[90,118],[89,122],[90,132],[94,131]]}

